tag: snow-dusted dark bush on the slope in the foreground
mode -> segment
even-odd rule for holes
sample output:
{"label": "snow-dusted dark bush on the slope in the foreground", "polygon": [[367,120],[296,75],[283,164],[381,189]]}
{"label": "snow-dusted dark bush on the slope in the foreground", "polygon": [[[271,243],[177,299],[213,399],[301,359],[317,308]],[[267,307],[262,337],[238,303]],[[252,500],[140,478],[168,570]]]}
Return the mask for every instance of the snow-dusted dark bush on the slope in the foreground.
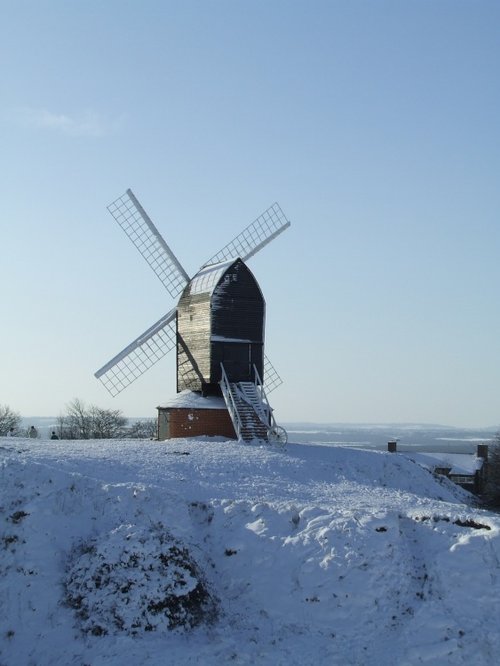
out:
{"label": "snow-dusted dark bush on the slope in the foreground", "polygon": [[192,628],[217,617],[200,568],[161,523],[120,525],[79,545],[65,589],[82,631],[94,636]]}

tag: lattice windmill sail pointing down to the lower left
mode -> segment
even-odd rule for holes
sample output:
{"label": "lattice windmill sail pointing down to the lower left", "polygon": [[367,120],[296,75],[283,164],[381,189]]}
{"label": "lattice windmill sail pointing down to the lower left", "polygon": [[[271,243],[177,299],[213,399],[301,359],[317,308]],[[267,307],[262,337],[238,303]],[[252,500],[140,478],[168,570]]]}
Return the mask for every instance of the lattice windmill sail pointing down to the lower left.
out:
{"label": "lattice windmill sail pointing down to the lower left", "polygon": [[95,373],[112,396],[118,395],[174,349],[175,314],[176,308],[167,312]]}

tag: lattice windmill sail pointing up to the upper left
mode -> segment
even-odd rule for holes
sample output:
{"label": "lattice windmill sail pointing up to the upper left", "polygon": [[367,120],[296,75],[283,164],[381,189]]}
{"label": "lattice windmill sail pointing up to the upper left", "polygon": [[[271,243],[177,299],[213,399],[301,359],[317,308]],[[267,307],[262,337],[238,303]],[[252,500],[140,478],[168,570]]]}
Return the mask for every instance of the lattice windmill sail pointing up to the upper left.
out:
{"label": "lattice windmill sail pointing up to the upper left", "polygon": [[111,215],[130,238],[168,293],[175,298],[189,282],[189,275],[164,241],[144,208],[128,189],[108,206]]}

